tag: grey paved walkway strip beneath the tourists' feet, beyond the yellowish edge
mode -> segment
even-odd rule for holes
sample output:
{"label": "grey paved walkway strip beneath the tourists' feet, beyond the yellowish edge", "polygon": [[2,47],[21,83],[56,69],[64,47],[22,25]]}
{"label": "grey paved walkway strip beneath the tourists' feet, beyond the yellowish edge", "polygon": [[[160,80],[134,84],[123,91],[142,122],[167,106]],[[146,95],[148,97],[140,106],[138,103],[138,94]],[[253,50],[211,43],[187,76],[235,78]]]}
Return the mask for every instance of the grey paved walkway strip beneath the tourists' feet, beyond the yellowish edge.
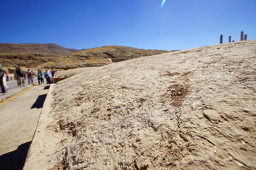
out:
{"label": "grey paved walkway strip beneath the tourists' feet, beyond the yellowish edge", "polygon": [[[37,77],[34,77],[34,85],[37,85],[38,80]],[[7,93],[4,94],[0,94],[0,102],[5,101],[7,98],[10,98],[18,93],[20,93],[21,91],[29,88],[32,86],[32,84],[28,84],[28,80],[25,80],[25,87],[20,87],[17,85],[17,81],[16,80],[12,80],[12,81],[7,81],[7,86],[9,87],[9,90],[7,91]]]}

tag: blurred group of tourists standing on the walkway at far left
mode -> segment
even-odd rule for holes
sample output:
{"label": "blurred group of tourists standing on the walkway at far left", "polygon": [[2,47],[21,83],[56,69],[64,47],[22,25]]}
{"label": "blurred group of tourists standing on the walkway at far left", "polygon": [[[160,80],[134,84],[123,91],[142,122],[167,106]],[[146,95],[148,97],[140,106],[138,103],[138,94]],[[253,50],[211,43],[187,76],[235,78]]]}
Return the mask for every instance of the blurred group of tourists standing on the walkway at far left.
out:
{"label": "blurred group of tourists standing on the walkway at far left", "polygon": [[[54,82],[54,74],[57,73],[57,70],[52,68],[51,71],[49,69],[46,69],[45,72],[42,70],[37,69],[37,78],[38,78],[38,84],[44,84],[44,78],[46,78],[46,83],[55,83]],[[28,69],[27,73],[23,72],[21,70],[21,67],[16,67],[14,70],[14,77],[17,80],[17,85],[22,87],[26,86],[25,85],[25,80],[28,80],[28,84],[34,84],[33,79],[34,79],[35,73],[33,72],[32,69]],[[6,80],[8,79],[8,75],[6,73],[6,70],[2,69],[2,65],[0,65],[0,91],[1,93],[6,93],[9,87],[7,86]]]}

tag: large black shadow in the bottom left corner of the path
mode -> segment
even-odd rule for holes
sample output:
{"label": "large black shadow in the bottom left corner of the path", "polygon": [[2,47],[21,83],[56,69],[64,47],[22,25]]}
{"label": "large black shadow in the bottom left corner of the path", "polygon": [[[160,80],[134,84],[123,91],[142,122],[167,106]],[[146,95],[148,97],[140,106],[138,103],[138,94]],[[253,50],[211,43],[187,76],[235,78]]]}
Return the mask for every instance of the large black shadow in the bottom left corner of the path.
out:
{"label": "large black shadow in the bottom left corner of the path", "polygon": [[22,170],[30,142],[26,142],[18,146],[15,151],[5,153],[0,156],[0,169],[1,170]]}

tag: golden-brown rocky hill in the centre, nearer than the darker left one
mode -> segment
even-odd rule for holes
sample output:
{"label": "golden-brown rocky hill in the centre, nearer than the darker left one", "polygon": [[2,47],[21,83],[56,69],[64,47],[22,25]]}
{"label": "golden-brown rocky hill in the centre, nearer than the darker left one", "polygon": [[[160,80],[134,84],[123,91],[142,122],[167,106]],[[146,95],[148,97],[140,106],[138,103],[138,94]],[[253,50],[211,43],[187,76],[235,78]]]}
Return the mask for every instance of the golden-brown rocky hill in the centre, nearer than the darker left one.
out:
{"label": "golden-brown rocky hill in the centre, nearer than the darker left one", "polygon": [[73,69],[81,67],[97,67],[114,62],[130,60],[134,58],[157,55],[170,51],[144,50],[125,46],[102,46],[85,49],[59,57],[53,61],[43,63],[38,68]]}

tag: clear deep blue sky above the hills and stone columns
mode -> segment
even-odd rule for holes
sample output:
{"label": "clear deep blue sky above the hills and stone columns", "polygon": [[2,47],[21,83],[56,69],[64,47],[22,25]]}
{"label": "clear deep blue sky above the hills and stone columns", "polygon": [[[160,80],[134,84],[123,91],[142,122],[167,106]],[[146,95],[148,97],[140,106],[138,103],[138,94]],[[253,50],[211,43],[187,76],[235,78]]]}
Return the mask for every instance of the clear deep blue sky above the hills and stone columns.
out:
{"label": "clear deep blue sky above the hills and stone columns", "polygon": [[0,43],[184,50],[256,39],[256,0],[1,0]]}

